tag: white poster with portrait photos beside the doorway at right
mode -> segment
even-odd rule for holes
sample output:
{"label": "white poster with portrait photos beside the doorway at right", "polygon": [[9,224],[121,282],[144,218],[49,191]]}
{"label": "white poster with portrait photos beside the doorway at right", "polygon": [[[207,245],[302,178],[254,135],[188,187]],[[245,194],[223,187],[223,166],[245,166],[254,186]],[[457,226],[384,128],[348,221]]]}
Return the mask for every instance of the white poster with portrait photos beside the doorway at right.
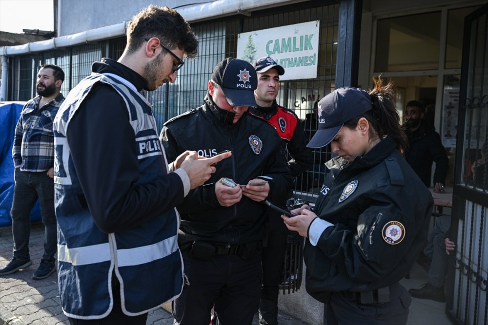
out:
{"label": "white poster with portrait photos beside the doorway at right", "polygon": [[441,138],[445,148],[456,147],[457,117],[459,112],[459,87],[444,89],[442,100]]}

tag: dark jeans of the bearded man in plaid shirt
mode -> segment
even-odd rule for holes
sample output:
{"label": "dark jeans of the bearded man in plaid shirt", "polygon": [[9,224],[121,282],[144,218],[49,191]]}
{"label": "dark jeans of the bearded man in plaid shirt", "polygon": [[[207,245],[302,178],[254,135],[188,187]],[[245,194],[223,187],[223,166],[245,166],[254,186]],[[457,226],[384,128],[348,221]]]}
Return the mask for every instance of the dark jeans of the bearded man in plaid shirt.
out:
{"label": "dark jeans of the bearded man in plaid shirt", "polygon": [[53,260],[58,248],[56,214],[54,212],[54,181],[46,172],[14,173],[14,200],[12,202],[12,235],[14,257],[29,260],[30,213],[39,198],[41,218],[44,224],[43,260]]}

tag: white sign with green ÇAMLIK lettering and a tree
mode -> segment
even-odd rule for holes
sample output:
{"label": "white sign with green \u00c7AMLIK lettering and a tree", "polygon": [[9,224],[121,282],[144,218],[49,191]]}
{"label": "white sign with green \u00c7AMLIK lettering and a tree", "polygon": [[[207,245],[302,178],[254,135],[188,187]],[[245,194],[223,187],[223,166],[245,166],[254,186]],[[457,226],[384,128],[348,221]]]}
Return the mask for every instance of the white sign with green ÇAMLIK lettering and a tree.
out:
{"label": "white sign with green \u00c7AMLIK lettering and a tree", "polygon": [[320,21],[241,33],[237,38],[237,58],[253,64],[271,57],[285,68],[281,80],[317,77]]}

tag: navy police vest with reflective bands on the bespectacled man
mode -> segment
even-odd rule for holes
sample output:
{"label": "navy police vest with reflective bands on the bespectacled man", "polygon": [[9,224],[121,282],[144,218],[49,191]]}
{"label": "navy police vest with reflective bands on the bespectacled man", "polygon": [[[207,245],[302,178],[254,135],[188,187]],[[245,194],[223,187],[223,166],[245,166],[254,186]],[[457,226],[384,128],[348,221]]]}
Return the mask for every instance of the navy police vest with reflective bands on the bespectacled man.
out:
{"label": "navy police vest with reflective bands on the bespectacled man", "polygon": [[[137,316],[175,299],[183,288],[176,209],[133,229],[106,234],[95,225],[86,204],[80,203],[82,190],[66,130],[98,82],[112,86],[127,104],[140,172],[135,185],[168,173],[151,105],[131,83],[119,76],[94,73],[69,92],[54,121],[54,183],[61,305],[68,317],[77,319],[106,317],[112,310],[114,294],[121,296],[124,314]],[[112,292],[113,273],[121,283],[121,292]]]}

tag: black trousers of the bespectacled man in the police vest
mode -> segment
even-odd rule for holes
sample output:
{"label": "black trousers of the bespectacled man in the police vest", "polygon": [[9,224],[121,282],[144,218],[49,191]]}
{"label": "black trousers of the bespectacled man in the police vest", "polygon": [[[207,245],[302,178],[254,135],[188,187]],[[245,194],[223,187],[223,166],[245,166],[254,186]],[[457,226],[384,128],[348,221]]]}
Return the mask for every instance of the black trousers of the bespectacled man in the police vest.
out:
{"label": "black trousers of the bespectacled man in the police vest", "polygon": [[[115,280],[114,280],[115,279]],[[71,325],[145,325],[147,321],[147,314],[139,316],[127,316],[122,312],[120,283],[115,274],[112,274],[112,292],[114,294],[114,306],[110,314],[102,319],[76,319],[68,317]]]}

